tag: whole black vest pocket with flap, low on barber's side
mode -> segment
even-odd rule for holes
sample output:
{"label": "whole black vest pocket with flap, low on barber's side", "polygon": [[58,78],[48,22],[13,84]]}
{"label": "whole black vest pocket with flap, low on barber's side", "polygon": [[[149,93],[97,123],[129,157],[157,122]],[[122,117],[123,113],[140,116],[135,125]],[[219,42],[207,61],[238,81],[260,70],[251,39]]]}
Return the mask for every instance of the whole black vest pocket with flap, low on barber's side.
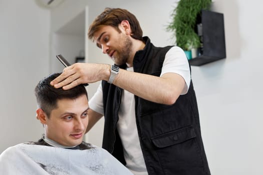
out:
{"label": "whole black vest pocket with flap, low on barber's side", "polygon": [[192,125],[151,138],[163,174],[207,174]]}

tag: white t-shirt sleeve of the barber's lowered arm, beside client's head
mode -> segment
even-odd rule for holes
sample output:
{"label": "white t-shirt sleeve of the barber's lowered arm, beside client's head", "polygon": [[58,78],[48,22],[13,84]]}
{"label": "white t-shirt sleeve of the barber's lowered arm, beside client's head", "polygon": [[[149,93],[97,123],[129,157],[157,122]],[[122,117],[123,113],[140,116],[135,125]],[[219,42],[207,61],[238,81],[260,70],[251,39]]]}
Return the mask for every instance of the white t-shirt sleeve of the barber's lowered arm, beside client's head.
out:
{"label": "white t-shirt sleeve of the barber's lowered arm, beside client's head", "polygon": [[102,85],[100,83],[99,87],[97,88],[97,91],[92,96],[92,98],[89,100],[89,107],[104,115],[104,109],[103,109],[103,96],[102,96]]}

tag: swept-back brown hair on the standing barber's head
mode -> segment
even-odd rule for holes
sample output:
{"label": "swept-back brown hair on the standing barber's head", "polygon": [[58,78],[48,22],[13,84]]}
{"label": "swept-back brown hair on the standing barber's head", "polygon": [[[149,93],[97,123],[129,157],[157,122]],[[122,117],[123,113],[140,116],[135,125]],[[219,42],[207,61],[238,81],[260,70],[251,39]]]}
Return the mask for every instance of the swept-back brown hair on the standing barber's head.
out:
{"label": "swept-back brown hair on the standing barber's head", "polygon": [[118,32],[121,32],[118,26],[123,20],[129,21],[131,26],[131,36],[134,39],[142,40],[142,29],[139,21],[134,14],[122,8],[105,8],[90,25],[88,32],[89,39],[93,39],[94,33],[104,25],[110,25]]}

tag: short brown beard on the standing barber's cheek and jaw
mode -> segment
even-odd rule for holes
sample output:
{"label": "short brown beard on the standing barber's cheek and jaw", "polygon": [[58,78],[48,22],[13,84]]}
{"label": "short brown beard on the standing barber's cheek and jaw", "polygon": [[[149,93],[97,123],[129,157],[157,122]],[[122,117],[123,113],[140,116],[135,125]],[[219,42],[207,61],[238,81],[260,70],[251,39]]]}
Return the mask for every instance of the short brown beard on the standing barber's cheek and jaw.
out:
{"label": "short brown beard on the standing barber's cheek and jaw", "polygon": [[124,37],[123,42],[120,44],[120,49],[118,50],[118,55],[114,58],[114,63],[117,65],[122,65],[128,62],[132,48],[132,41],[128,36]]}

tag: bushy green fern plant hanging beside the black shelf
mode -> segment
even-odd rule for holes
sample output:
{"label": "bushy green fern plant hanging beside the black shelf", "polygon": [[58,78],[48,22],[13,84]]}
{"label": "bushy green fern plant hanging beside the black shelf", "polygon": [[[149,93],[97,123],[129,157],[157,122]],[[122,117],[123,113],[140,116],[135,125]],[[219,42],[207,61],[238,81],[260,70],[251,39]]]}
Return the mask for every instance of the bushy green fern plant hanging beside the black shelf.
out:
{"label": "bushy green fern plant hanging beside the black shelf", "polygon": [[176,45],[184,50],[200,47],[200,38],[195,32],[196,17],[202,9],[210,7],[211,0],[180,0],[174,8],[172,21],[167,26],[176,39]]}

